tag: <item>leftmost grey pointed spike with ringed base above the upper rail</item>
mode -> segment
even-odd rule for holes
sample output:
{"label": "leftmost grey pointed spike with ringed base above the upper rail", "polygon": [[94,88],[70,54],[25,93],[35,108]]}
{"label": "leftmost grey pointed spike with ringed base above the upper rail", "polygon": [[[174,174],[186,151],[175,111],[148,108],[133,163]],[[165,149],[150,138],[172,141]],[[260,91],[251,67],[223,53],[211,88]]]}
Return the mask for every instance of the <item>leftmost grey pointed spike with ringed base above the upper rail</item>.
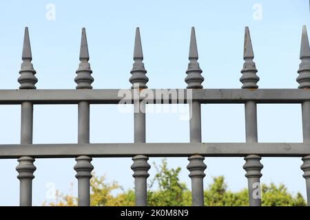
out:
{"label": "leftmost grey pointed spike with ringed base above the upper rail", "polygon": [[23,54],[21,56],[23,63],[21,63],[21,70],[19,71],[19,78],[17,81],[21,85],[19,89],[36,89],[34,86],[38,79],[34,74],[36,71],[33,69],[32,66],[32,54],[31,54],[31,47],[30,47],[30,39],[29,39],[29,32],[28,27],[25,27],[25,35],[23,38]]}

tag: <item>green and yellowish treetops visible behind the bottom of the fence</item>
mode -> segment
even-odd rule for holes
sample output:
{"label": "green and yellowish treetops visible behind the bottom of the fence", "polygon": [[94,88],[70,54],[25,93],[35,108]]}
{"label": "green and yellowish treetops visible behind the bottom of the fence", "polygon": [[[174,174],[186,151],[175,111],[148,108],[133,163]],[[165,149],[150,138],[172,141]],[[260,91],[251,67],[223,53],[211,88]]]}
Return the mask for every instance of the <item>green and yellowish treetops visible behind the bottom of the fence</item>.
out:
{"label": "green and yellowish treetops visible behind the bottom of the fence", "polygon": [[[151,179],[147,192],[148,206],[190,206],[192,195],[186,184],[179,179],[180,167],[168,168],[163,159],[160,166],[156,166],[156,175]],[[156,186],[157,185],[157,186]],[[276,186],[262,184],[262,206],[306,206],[302,195],[293,195],[280,184]],[[116,182],[107,182],[105,176],[98,177],[93,173],[90,179],[91,206],[134,206],[134,190],[123,188]],[[115,191],[121,191],[115,193]],[[223,176],[214,177],[204,191],[205,206],[248,206],[248,192],[244,188],[238,192],[231,192],[225,184]],[[56,192],[56,200],[43,203],[48,206],[76,206],[77,199],[72,195]]]}

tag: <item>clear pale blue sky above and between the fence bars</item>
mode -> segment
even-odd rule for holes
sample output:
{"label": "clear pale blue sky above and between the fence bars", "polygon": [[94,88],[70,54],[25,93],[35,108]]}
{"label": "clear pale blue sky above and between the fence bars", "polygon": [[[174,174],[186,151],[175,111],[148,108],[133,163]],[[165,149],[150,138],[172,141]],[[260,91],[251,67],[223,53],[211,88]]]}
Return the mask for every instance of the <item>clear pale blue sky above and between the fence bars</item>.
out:
{"label": "clear pale blue sky above and between the fence bars", "polygon": [[[48,3],[55,20],[46,19]],[[255,16],[259,4],[262,14]],[[81,28],[85,27],[94,89],[128,88],[134,31],[141,28],[149,88],[185,88],[190,28],[196,28],[199,63],[205,88],[240,88],[243,34],[251,32],[260,88],[296,88],[302,25],[310,32],[309,1],[1,1],[0,89],[17,89],[24,27],[30,28],[38,89],[74,89],[79,64]],[[257,18],[261,19],[257,19]],[[255,19],[256,18],[256,19]],[[259,104],[260,142],[302,142],[300,105]],[[204,104],[203,142],[245,142],[242,104]],[[1,144],[19,143],[20,107],[0,107]],[[133,142],[133,116],[116,106],[91,106],[91,142]],[[75,143],[77,107],[34,107],[34,143]],[[189,142],[189,123],[177,113],[149,113],[147,142]],[[150,164],[160,159],[150,159]],[[224,175],[231,190],[247,186],[238,158],[206,158],[205,186],[211,177]],[[37,159],[33,203],[48,198],[47,184],[76,195],[74,159]],[[105,174],[124,188],[134,181],[127,159],[94,159],[96,174]],[[181,166],[181,179],[190,181],[187,158],[168,159]],[[262,182],[286,184],[305,195],[300,158],[263,158]],[[16,159],[1,159],[0,205],[19,204]],[[150,170],[151,177],[155,170]],[[52,201],[52,200],[48,200]]]}

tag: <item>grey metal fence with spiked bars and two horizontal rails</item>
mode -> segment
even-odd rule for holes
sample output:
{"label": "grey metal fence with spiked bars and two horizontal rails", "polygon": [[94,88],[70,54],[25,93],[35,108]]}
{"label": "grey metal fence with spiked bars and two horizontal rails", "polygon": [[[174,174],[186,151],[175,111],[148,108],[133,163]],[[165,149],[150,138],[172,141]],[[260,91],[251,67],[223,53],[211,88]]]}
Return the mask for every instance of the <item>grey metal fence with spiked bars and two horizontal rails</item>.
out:
{"label": "grey metal fence with spiked bars and two horizontal rails", "polygon": [[[17,178],[20,180],[20,206],[32,205],[32,179],[35,158],[75,157],[78,179],[79,206],[90,205],[90,178],[92,157],[132,157],[136,206],[147,205],[147,173],[149,157],[188,157],[189,177],[192,179],[192,205],[203,206],[203,178],[205,157],[244,157],[248,180],[249,206],[260,206],[261,157],[302,157],[301,169],[306,179],[307,202],[310,206],[310,49],[307,30],[302,28],[298,89],[258,89],[254,52],[249,28],[245,28],[241,70],[242,89],[203,89],[203,72],[198,63],[195,30],[192,28],[189,46],[189,64],[186,71],[187,89],[147,89],[143,52],[139,29],[136,29],[134,64],[127,96],[120,96],[120,89],[92,89],[92,70],[85,28],[82,29],[80,63],[74,78],[76,89],[36,89],[36,71],[32,66],[32,54],[28,28],[25,28],[19,89],[0,90],[0,104],[21,104],[21,144],[0,144],[0,158],[18,158]],[[150,96],[159,91],[159,96]],[[129,95],[128,95],[129,93]],[[146,95],[148,94],[148,95]],[[185,95],[184,95],[185,94]],[[134,98],[136,97],[136,98]],[[134,143],[90,144],[90,104],[134,104]],[[145,104],[187,103],[189,105],[190,143],[145,143]],[[245,104],[245,143],[202,143],[200,104]],[[303,143],[258,143],[258,103],[298,103],[302,107]],[[78,104],[77,144],[32,144],[34,104]]]}

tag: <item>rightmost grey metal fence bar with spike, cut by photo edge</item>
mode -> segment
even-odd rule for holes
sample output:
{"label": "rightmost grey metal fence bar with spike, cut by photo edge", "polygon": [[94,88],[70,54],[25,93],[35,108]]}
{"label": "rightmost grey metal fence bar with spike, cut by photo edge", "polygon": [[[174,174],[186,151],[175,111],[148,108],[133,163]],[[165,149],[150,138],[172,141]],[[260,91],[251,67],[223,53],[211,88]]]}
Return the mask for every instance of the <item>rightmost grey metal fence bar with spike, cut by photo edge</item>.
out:
{"label": "rightmost grey metal fence bar with spike, cut by photo edge", "polygon": [[[310,48],[307,28],[302,27],[302,39],[300,45],[300,60],[296,81],[299,89],[310,89]],[[310,144],[310,100],[302,103],[302,135],[304,143]],[[310,155],[302,157],[303,164],[300,168],[304,171],[304,179],[307,187],[307,203],[310,206]]]}

